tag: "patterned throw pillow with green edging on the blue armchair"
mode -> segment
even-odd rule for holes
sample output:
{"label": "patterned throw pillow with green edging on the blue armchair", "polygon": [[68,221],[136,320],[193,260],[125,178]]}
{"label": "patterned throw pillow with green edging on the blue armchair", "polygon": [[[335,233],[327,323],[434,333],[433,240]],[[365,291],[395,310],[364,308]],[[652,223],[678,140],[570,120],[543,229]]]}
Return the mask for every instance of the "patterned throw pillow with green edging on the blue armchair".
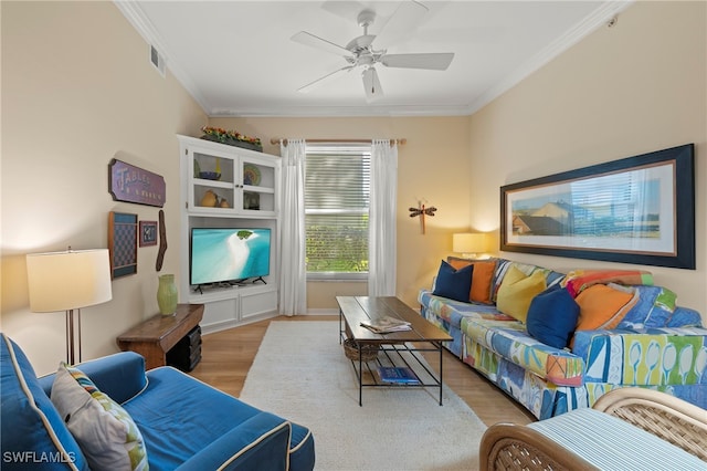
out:
{"label": "patterned throw pillow with green edging on the blue armchair", "polygon": [[133,418],[76,368],[60,364],[51,399],[94,470],[147,470]]}

